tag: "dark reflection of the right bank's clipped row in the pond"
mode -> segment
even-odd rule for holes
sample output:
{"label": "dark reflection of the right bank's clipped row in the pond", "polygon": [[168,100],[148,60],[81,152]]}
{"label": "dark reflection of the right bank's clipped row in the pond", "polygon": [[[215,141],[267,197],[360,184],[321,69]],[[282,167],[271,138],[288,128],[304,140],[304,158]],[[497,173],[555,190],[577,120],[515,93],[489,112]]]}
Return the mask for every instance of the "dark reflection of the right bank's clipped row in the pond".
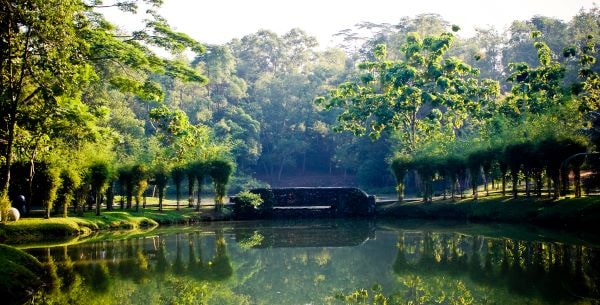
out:
{"label": "dark reflection of the right bank's clipped row in the pond", "polygon": [[581,245],[407,231],[400,233],[392,268],[404,287],[400,295],[414,304],[427,303],[419,300],[441,289],[434,283],[440,276],[458,281],[457,287],[468,279],[522,297],[570,303],[599,300],[599,254]]}

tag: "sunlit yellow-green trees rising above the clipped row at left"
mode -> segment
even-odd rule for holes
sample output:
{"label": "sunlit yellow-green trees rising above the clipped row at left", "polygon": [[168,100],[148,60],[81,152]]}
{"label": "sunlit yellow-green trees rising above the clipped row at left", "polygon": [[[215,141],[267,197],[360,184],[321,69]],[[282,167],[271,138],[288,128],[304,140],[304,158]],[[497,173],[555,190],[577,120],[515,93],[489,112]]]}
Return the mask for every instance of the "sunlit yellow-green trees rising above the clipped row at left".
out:
{"label": "sunlit yellow-green trees rising above the clipped row at left", "polygon": [[[206,51],[170,28],[157,13],[161,3],[0,2],[2,213],[14,198],[9,193],[31,189],[34,180],[48,189],[34,204],[49,211],[56,196],[81,197],[78,185],[103,193],[113,164],[167,171],[193,160],[232,159],[227,139],[165,103],[165,83],[202,86],[208,79],[182,57],[154,52]],[[135,14],[141,4],[146,19],[138,29],[118,29],[103,15],[110,7]],[[16,163],[25,169],[11,175]],[[153,177],[166,184],[164,175]]]}

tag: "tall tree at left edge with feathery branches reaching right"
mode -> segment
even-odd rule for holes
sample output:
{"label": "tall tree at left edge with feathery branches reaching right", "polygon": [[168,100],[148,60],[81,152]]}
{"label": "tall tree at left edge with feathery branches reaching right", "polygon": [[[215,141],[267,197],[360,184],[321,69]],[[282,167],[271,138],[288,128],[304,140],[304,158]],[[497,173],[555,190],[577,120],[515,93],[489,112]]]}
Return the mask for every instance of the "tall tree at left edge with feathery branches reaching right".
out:
{"label": "tall tree at left edge with feathery branches reaching right", "polygon": [[[117,89],[140,100],[160,102],[163,92],[150,79],[152,73],[206,83],[192,68],[154,54],[150,46],[171,52],[201,53],[204,49],[189,36],[173,31],[156,13],[162,1],[145,2],[150,9],[144,28],[125,35],[96,11],[106,7],[96,1],[0,3],[3,198],[10,183],[17,132],[29,135],[33,143],[47,138],[49,146],[58,145],[52,141],[56,138],[67,138],[71,145],[76,144],[73,139],[94,141],[80,137],[78,127],[93,127],[95,120],[90,118],[107,114],[106,92]],[[136,1],[109,6],[130,13],[137,10]],[[32,152],[38,147],[31,146]]]}

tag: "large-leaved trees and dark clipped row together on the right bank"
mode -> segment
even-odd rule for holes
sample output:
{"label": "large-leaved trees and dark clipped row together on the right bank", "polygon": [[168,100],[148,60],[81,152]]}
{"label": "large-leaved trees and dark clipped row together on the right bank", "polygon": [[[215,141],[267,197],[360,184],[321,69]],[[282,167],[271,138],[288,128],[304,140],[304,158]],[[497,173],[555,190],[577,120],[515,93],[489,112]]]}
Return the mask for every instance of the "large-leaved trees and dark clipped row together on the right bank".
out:
{"label": "large-leaved trees and dark clipped row together on the right bank", "polygon": [[[581,196],[583,159],[561,166],[599,144],[593,119],[600,98],[595,38],[587,35],[559,55],[544,42],[543,33],[534,31],[530,37],[538,62],[510,63],[505,84],[510,90],[505,93],[504,84],[482,78],[478,69],[451,55],[452,33],[425,38],[411,33],[399,47],[401,53],[389,55],[386,45],[376,45],[372,60],[358,66],[360,78],[317,103],[341,110],[338,130],[396,138],[398,156],[391,164],[400,198],[409,169],[419,173],[420,192],[429,201],[438,176],[449,186],[459,176],[470,176],[476,198],[481,172],[489,177],[494,168],[498,177],[511,173],[514,196],[523,175],[527,195],[530,178],[540,195],[545,176],[558,198],[566,194],[568,166]],[[575,79],[569,78],[573,67]]]}

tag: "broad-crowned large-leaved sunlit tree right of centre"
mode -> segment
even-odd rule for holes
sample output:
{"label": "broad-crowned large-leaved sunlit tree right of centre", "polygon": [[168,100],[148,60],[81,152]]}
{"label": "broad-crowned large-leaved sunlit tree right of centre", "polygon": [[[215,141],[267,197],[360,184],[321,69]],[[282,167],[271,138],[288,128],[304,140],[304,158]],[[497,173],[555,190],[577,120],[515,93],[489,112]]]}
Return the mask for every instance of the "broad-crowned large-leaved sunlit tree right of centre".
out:
{"label": "broad-crowned large-leaved sunlit tree right of centre", "polygon": [[[374,51],[377,61],[359,65],[359,82],[347,82],[317,99],[326,109],[341,108],[337,130],[378,138],[385,129],[400,131],[407,152],[425,139],[460,128],[469,110],[479,109],[498,93],[480,86],[476,71],[457,58],[445,58],[454,36],[444,33],[421,40],[410,34],[404,60],[386,60],[386,47]],[[427,107],[424,107],[427,106]]]}

